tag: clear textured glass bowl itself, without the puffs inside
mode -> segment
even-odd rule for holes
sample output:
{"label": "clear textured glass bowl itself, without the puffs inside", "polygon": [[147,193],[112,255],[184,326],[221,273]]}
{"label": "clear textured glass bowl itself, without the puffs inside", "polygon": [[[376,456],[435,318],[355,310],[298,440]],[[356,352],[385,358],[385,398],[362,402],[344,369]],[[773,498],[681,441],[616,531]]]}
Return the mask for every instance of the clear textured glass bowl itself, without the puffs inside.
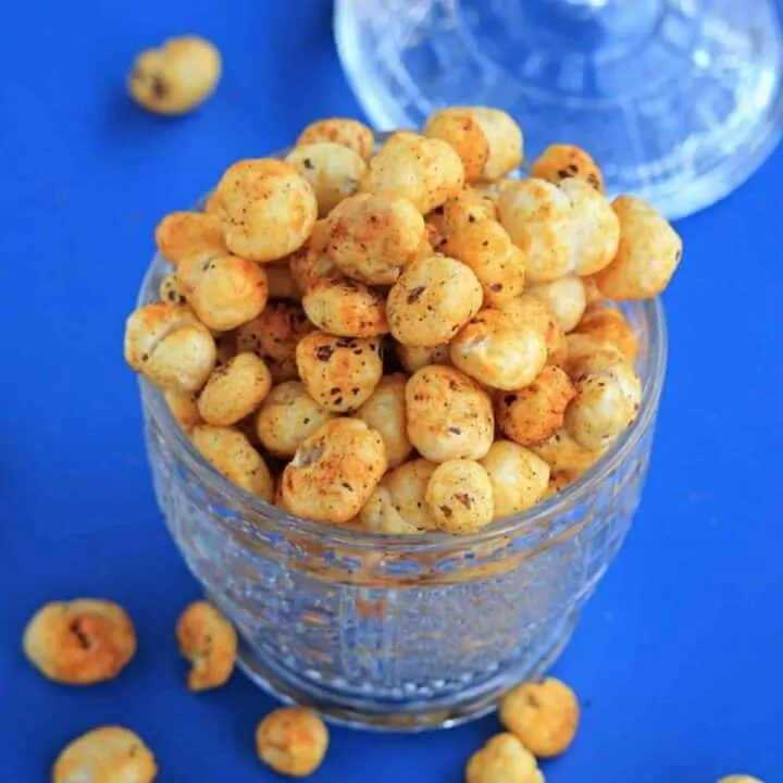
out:
{"label": "clear textured glass bowl itself, without the puffs inside", "polygon": [[[170,271],[156,256],[139,304],[158,299]],[[419,731],[477,718],[540,675],[642,496],[666,322],[657,299],[624,310],[639,339],[636,421],[566,489],[470,536],[377,536],[290,517],[217,473],[141,378],[158,502],[188,568],[235,623],[248,676],[335,722]]]}

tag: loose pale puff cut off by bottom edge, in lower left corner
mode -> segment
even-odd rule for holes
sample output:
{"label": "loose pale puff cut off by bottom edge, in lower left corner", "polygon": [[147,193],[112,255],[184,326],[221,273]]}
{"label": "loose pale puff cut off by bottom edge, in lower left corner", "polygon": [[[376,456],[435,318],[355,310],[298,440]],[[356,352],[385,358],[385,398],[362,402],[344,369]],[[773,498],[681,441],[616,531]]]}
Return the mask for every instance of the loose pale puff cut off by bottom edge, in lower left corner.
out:
{"label": "loose pale puff cut off by bottom edge, in lower left corner", "polygon": [[158,765],[141,737],[101,726],[70,743],[52,768],[52,783],[152,783]]}

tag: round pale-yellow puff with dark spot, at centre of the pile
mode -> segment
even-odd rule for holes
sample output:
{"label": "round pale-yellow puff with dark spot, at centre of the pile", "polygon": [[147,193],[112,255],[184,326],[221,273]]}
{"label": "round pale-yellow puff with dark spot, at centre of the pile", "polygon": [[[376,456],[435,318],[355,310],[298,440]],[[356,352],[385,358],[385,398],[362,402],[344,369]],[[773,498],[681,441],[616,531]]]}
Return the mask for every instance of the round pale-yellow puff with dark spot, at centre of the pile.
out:
{"label": "round pale-yellow puff with dark spot, at centre of the pile", "polygon": [[411,263],[391,286],[386,314],[395,339],[409,346],[447,343],[480,310],[475,274],[446,256]]}

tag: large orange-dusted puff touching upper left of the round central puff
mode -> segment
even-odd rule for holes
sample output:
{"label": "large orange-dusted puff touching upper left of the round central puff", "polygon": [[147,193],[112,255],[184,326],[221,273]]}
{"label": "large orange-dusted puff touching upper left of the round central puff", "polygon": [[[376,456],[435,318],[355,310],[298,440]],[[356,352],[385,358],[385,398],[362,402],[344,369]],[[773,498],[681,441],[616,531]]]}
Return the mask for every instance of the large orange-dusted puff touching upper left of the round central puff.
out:
{"label": "large orange-dusted puff touching upper left of the round central puff", "polygon": [[335,266],[368,285],[391,285],[403,266],[431,252],[424,219],[400,196],[351,196],[332,211],[322,231]]}

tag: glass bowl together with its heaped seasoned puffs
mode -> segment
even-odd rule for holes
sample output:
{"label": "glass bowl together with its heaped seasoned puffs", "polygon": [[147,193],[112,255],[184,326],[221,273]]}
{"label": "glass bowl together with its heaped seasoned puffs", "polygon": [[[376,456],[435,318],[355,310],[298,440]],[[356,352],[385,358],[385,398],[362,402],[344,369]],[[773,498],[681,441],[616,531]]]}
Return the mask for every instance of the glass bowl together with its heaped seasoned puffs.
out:
{"label": "glass bowl together with its heaped seasoned puffs", "polygon": [[[157,494],[239,660],[345,720],[456,722],[511,669],[538,679],[623,542],[651,449],[666,332],[649,297],[676,234],[587,175],[517,178],[521,147],[475,179],[485,153],[465,145],[476,126],[497,138],[477,116],[372,148],[332,119],[302,133],[301,170],[231,166],[188,213],[207,221],[164,221],[172,258],[128,321]],[[323,144],[366,166],[356,191],[326,188],[331,209],[302,175]],[[266,301],[216,328],[196,291],[225,256],[265,273]],[[269,388],[235,372],[260,366],[246,355]]]}

